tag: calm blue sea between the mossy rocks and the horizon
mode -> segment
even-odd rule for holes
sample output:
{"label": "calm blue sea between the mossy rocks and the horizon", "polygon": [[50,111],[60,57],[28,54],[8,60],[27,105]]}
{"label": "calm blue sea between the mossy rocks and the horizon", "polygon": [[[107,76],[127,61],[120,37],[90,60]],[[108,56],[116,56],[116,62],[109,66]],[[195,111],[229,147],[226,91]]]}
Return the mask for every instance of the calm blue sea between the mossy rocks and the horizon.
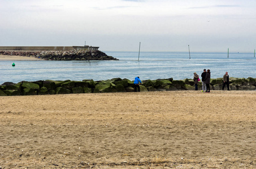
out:
{"label": "calm blue sea between the mossy rocks and the horizon", "polygon": [[[104,51],[119,61],[1,61],[0,84],[4,82],[38,80],[75,80],[128,78],[140,76],[145,79],[193,78],[203,69],[211,70],[211,77],[223,77],[228,72],[231,77],[256,78],[256,57],[253,53],[203,53],[192,52],[116,52]],[[13,67],[12,63],[16,66]]]}

